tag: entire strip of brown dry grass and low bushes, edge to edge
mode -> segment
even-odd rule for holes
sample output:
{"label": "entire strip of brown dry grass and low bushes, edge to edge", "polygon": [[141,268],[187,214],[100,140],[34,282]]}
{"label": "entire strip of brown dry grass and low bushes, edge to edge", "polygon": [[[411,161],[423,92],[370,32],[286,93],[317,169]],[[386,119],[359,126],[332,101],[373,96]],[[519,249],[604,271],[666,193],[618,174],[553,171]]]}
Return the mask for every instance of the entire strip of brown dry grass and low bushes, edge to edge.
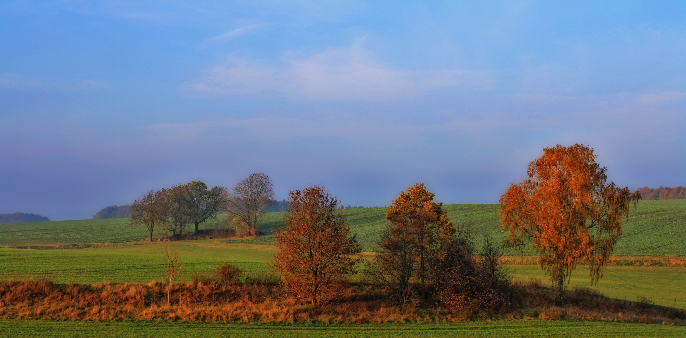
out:
{"label": "entire strip of brown dry grass and low bushes, edge to edge", "polygon": [[[100,283],[56,285],[50,280],[0,282],[0,318],[57,320],[155,320],[188,322],[397,323],[493,319],[580,319],[610,322],[686,324],[686,312],[606,298],[586,288],[567,292],[565,306],[538,280],[514,282],[510,306],[492,313],[445,311],[440,304],[413,306],[388,300],[383,289],[349,286],[345,299],[322,306],[290,298],[281,285],[249,279],[242,284],[216,281],[167,285]],[[167,293],[171,298],[167,300]]]}

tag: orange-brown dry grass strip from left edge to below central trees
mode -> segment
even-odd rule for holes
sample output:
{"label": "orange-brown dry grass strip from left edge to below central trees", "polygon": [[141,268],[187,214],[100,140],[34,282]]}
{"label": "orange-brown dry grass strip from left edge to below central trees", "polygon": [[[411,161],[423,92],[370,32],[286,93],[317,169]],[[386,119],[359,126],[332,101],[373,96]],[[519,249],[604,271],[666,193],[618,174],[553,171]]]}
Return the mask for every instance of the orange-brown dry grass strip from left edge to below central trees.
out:
{"label": "orange-brown dry grass strip from left edge to below central trees", "polygon": [[[171,293],[171,302],[167,302],[167,291]],[[364,290],[358,290],[359,293],[370,295]],[[278,284],[55,285],[49,280],[23,280],[0,283],[0,318],[327,323],[417,322],[436,318],[437,311],[353,298],[351,295],[348,302],[317,307],[286,297]]]}

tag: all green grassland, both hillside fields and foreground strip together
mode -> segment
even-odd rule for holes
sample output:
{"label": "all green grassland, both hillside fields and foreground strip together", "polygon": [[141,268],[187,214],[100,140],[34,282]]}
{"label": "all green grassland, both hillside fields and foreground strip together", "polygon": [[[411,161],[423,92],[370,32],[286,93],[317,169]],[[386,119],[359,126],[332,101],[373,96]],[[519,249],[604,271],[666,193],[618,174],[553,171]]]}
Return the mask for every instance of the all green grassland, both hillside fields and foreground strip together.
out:
{"label": "all green grassland, both hillside fields and foreground strip together", "polygon": [[[448,215],[455,224],[469,223],[475,238],[490,233],[503,239],[495,204],[447,205]],[[353,233],[357,233],[363,251],[371,251],[377,234],[384,226],[386,208],[343,210],[348,215]],[[270,274],[268,263],[276,253],[272,228],[283,224],[283,213],[268,213],[261,224],[265,236],[255,239],[204,239],[121,245],[102,248],[27,250],[0,248],[0,280],[48,278],[57,283],[93,284],[104,281],[147,283],[162,280],[165,245],[180,250],[184,265],[180,278],[192,280],[208,276],[220,262],[232,262],[259,277]],[[201,226],[221,226],[224,216]],[[624,236],[617,243],[615,254],[622,256],[686,255],[686,200],[642,201],[632,210],[624,225]],[[25,224],[0,224],[0,245],[127,243],[141,241],[147,232],[142,226],[129,225],[128,219],[94,219],[80,221],[50,221]],[[163,234],[158,233],[158,236]],[[511,253],[510,253],[511,254]],[[547,276],[538,265],[512,265],[514,278],[538,278],[548,285]],[[657,305],[686,309],[686,268],[684,267],[606,267],[604,278],[593,288],[611,298],[636,300],[645,296]],[[591,287],[588,272],[583,267],[573,273],[569,287]],[[532,331],[532,328],[536,328]],[[152,337],[164,329],[169,337],[219,337],[230,332],[234,336],[266,335],[293,337],[322,335],[324,337],[410,337],[416,330],[425,330],[427,337],[683,337],[684,328],[641,326],[636,324],[566,322],[566,321],[506,321],[458,324],[384,324],[362,326],[279,326],[250,324],[153,323],[153,322],[40,322],[10,320],[0,322],[0,335],[13,337]],[[259,330],[259,331],[257,331]],[[192,332],[192,333],[191,333]]]}

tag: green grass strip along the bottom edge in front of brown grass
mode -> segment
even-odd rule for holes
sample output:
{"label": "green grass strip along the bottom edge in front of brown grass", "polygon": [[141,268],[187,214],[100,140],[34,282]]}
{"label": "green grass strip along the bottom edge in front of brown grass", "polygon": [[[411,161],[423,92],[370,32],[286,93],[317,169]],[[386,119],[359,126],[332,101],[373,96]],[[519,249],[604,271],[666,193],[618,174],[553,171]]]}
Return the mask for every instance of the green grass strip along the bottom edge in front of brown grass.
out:
{"label": "green grass strip along the bottom edge in front of brown grass", "polygon": [[0,320],[0,335],[62,337],[686,337],[686,326],[613,322],[501,321],[426,324],[274,325],[189,322]]}

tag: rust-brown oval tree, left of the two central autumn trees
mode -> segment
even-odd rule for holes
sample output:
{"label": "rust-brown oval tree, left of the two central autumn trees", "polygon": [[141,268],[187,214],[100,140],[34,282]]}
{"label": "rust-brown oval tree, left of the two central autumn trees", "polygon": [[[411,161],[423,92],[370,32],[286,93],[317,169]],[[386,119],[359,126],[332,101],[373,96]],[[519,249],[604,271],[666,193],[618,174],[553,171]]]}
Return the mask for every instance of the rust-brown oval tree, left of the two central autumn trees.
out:
{"label": "rust-brown oval tree, left of the two central autumn trees", "polygon": [[287,289],[296,298],[323,304],[344,292],[346,276],[355,274],[361,258],[357,235],[348,237],[346,217],[335,207],[336,197],[322,186],[311,186],[288,195],[285,225],[274,230],[279,254],[274,267],[281,271]]}

